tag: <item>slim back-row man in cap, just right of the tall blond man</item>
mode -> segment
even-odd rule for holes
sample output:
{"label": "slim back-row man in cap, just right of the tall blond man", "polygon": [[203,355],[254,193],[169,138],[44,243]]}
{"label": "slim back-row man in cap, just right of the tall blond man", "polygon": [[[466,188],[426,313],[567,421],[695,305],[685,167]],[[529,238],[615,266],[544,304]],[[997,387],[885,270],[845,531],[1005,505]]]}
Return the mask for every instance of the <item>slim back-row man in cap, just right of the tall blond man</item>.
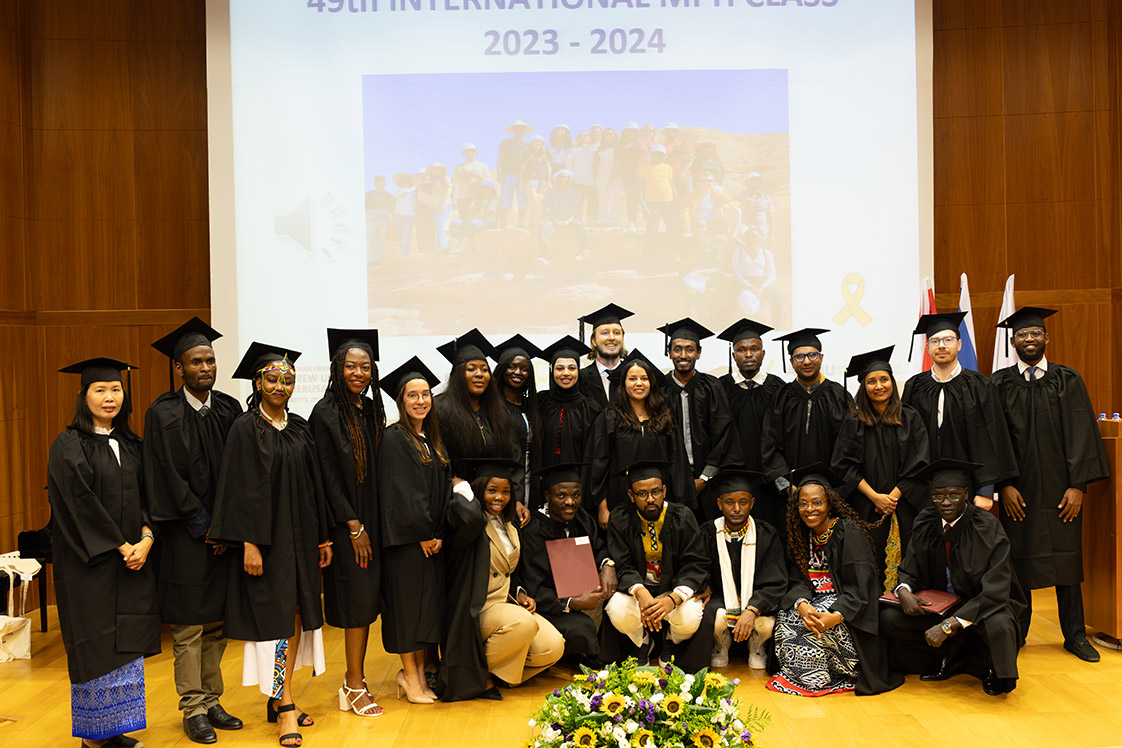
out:
{"label": "slim back-row man in cap, just right of the tall blond man", "polygon": [[701,341],[712,333],[689,317],[663,325],[659,331],[666,336],[666,355],[674,364],[662,379],[662,394],[674,418],[678,460],[687,468],[692,483],[683,481],[687,496],[681,500],[698,510],[699,517],[712,518],[715,502],[701,499],[706,484],[720,465],[744,461],[724,387],[712,375],[697,370]]}

